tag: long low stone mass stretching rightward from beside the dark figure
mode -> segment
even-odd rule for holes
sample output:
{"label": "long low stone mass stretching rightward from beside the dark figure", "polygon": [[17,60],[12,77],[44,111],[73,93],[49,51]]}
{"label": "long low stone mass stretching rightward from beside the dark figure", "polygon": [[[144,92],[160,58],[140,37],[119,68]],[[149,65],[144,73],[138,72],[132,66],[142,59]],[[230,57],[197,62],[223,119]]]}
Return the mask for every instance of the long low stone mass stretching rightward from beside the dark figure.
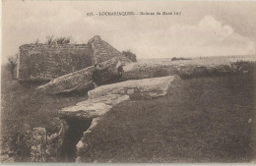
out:
{"label": "long low stone mass stretching rightward from beside the dark figure", "polygon": [[131,63],[123,67],[121,81],[179,75],[182,79],[225,75],[232,72],[228,65],[147,64]]}

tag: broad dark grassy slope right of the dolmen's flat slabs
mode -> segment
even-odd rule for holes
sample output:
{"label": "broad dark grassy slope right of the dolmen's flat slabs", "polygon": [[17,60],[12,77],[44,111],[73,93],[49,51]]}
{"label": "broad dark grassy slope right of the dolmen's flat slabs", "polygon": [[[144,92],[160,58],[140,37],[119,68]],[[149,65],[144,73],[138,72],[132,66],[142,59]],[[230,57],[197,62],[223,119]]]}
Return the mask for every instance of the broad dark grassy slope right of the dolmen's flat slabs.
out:
{"label": "broad dark grassy slope right of the dolmen's flat slabs", "polygon": [[183,80],[167,96],[124,102],[85,140],[84,161],[248,162],[253,84],[248,75]]}

